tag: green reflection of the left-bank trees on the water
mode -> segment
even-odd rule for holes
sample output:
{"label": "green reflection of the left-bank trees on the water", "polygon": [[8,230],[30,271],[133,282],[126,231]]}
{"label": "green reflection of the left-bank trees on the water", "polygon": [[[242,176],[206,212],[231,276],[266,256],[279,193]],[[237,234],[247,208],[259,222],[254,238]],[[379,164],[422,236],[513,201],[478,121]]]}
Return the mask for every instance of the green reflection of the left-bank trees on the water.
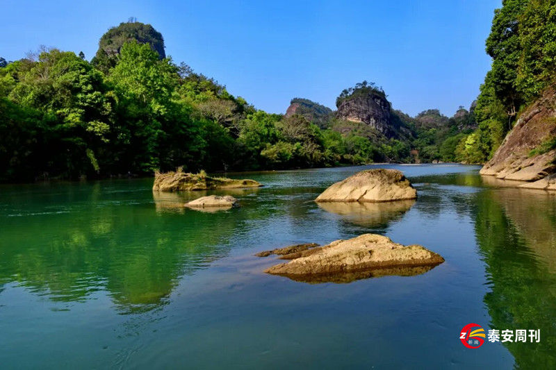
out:
{"label": "green reflection of the left-bank trees on the water", "polygon": [[[8,208],[17,210],[1,221],[0,286],[17,282],[59,302],[106,291],[121,313],[145,312],[167,303],[180,276],[226,255],[215,245],[238,222],[223,217],[213,223],[197,212],[184,222],[183,206],[170,206],[183,204],[177,194],[156,194],[153,208],[151,192],[108,187],[100,194],[99,183],[75,186],[64,189],[71,194],[15,192],[8,199]],[[67,212],[39,212],[47,207]],[[161,213],[169,209],[177,212]]]}

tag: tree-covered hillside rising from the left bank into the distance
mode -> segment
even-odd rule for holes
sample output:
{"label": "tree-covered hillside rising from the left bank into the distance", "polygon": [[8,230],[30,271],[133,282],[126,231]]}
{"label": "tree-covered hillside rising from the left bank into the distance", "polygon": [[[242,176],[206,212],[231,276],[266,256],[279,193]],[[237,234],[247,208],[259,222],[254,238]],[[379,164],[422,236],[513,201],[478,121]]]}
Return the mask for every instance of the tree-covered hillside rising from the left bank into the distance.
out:
{"label": "tree-covered hillside rising from the left bank into the distance", "polygon": [[455,118],[429,127],[391,110],[394,134],[384,135],[306,99],[293,103],[300,111],[286,116],[257,110],[167,57],[149,24],[122,23],[90,62],[58,49],[0,58],[0,180],[459,160],[455,144],[468,127]]}

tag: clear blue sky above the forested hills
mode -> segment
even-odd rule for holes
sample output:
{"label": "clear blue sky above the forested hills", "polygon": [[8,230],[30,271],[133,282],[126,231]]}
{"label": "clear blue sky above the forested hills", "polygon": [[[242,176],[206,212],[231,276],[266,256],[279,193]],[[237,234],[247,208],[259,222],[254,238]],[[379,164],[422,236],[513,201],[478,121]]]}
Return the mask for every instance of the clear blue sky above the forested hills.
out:
{"label": "clear blue sky above the forested hills", "polygon": [[285,112],[293,97],[335,109],[363,80],[410,115],[468,107],[491,60],[484,52],[501,0],[21,1],[4,0],[0,56],[41,44],[90,59],[111,26],[137,17],[166,53],[214,77],[256,108]]}

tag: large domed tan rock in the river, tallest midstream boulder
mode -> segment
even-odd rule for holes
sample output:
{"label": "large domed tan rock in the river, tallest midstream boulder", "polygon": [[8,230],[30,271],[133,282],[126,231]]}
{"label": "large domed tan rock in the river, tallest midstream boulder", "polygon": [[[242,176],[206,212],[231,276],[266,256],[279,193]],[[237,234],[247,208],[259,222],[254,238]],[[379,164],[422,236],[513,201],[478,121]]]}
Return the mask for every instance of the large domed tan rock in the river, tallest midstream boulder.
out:
{"label": "large domed tan rock in the river, tallest midstream boulder", "polygon": [[317,202],[386,202],[416,199],[417,191],[397,169],[368,169],[335,183]]}

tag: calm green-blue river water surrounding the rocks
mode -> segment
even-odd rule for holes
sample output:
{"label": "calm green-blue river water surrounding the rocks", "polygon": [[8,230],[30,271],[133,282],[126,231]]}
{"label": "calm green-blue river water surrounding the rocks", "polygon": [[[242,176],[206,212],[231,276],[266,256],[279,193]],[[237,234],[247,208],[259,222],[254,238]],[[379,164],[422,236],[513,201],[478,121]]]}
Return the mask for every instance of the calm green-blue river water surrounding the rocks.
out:
{"label": "calm green-blue river water surrounding the rocks", "polygon": [[[418,200],[313,202],[364,168]],[[152,179],[0,186],[1,369],[556,369],[556,196],[463,165],[237,174],[242,207],[179,207]],[[445,262],[417,276],[308,284],[254,253],[379,233]],[[461,328],[540,330],[466,348]]]}

